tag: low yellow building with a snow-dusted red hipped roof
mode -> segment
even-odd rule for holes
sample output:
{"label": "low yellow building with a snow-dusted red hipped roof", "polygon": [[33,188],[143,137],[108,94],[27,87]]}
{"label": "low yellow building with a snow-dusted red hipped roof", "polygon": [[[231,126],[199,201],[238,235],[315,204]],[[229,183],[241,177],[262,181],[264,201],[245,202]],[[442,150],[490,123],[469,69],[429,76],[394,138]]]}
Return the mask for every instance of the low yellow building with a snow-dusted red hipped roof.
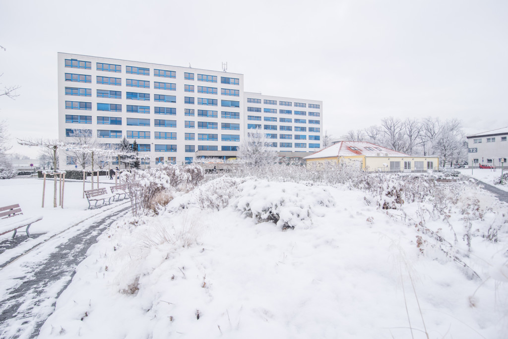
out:
{"label": "low yellow building with a snow-dusted red hipped roof", "polygon": [[358,163],[369,172],[430,172],[439,168],[437,156],[413,156],[368,142],[341,141],[304,157],[310,164],[333,162]]}

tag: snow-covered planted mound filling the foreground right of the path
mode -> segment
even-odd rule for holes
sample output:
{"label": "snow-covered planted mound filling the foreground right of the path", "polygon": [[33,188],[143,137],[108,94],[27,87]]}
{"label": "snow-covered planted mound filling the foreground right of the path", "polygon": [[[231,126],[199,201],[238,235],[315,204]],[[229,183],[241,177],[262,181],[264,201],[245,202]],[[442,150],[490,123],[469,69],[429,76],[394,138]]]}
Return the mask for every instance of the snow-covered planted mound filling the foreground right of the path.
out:
{"label": "snow-covered planted mound filling the foreground right of the path", "polygon": [[[506,337],[507,205],[467,180],[415,185],[219,178],[175,193],[100,236],[40,337]],[[50,210],[40,229],[67,213]]]}

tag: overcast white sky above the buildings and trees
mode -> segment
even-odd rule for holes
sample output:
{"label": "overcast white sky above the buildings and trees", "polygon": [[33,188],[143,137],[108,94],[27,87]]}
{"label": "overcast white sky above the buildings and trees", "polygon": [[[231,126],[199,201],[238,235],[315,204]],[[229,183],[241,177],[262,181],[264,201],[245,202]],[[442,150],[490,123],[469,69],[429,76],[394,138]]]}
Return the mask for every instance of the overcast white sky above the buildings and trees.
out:
{"label": "overcast white sky above the buildings and trees", "polygon": [[[335,137],[388,116],[508,125],[508,1],[0,0],[0,119],[57,137],[57,52],[244,74],[244,90],[323,100]],[[37,151],[15,146],[13,152]]]}

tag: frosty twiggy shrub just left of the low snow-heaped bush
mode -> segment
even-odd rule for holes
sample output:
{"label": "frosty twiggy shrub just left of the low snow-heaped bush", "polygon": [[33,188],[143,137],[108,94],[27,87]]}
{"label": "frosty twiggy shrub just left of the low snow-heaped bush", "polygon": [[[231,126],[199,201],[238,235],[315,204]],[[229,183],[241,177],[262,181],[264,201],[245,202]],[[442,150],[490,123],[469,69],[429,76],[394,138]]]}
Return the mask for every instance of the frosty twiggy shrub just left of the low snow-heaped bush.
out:
{"label": "frosty twiggy shrub just left of the low snow-heaped bush", "polygon": [[193,191],[197,205],[201,209],[219,211],[229,205],[229,201],[238,195],[238,185],[244,180],[238,178],[222,177],[207,182]]}

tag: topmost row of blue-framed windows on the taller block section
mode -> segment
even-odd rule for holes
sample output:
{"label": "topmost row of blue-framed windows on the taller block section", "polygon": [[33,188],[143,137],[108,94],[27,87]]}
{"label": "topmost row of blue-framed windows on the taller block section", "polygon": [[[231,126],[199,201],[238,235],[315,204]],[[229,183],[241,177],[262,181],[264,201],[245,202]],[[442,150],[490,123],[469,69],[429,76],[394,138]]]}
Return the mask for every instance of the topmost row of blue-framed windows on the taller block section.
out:
{"label": "topmost row of blue-framed windows on the taller block section", "polygon": [[[77,59],[65,59],[65,66],[70,68],[91,70],[91,62],[90,61],[82,61]],[[105,72],[114,72],[121,73],[121,65],[112,64],[112,63],[104,63],[97,62],[97,70],[105,71]],[[137,75],[150,75],[150,69],[146,67],[136,67],[136,66],[125,66],[125,73],[128,74],[137,74]],[[169,70],[153,70],[153,75],[155,77],[164,77],[164,78],[176,78],[175,71]],[[194,80],[194,73],[184,73],[185,80]],[[212,75],[198,74],[198,81],[206,81],[206,82],[217,82],[217,77]],[[239,85],[240,79],[238,78],[230,78],[230,77],[220,77],[221,84],[229,84],[229,85]]]}

